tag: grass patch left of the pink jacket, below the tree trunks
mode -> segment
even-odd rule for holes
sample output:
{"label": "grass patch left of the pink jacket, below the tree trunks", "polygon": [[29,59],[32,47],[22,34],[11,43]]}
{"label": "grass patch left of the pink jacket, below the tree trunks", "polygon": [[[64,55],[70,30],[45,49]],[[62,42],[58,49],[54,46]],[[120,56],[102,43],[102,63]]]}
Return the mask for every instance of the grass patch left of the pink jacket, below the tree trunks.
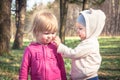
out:
{"label": "grass patch left of the pink jacket, below the tree trunks", "polygon": [[13,50],[10,55],[0,56],[0,80],[18,80],[21,50]]}

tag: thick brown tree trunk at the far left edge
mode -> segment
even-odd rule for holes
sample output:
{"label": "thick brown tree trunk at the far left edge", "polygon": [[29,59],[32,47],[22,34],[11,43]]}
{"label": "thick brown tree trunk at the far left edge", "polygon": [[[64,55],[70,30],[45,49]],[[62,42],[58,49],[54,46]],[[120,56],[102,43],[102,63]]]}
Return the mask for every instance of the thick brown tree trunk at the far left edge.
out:
{"label": "thick brown tree trunk at the far left edge", "polygon": [[0,0],[0,55],[9,53],[11,0]]}

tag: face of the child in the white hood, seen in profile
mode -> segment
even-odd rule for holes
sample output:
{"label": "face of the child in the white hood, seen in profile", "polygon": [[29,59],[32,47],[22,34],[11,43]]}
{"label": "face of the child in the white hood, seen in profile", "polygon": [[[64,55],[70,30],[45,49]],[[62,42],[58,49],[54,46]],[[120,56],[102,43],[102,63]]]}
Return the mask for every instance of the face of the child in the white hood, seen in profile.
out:
{"label": "face of the child in the white hood, seen in profile", "polygon": [[86,38],[86,28],[80,23],[76,23],[76,31],[81,40],[84,40]]}

